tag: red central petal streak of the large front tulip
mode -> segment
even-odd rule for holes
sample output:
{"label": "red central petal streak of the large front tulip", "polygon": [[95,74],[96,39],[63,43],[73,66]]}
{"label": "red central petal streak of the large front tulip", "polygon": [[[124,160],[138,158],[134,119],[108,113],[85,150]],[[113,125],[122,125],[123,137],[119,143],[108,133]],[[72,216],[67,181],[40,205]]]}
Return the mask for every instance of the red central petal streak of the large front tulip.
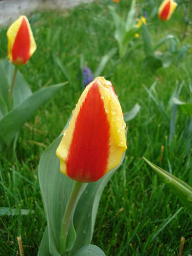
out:
{"label": "red central petal streak of the large front tulip", "polygon": [[110,125],[97,84],[93,84],[77,116],[66,161],[69,177],[81,182],[96,181],[107,168]]}

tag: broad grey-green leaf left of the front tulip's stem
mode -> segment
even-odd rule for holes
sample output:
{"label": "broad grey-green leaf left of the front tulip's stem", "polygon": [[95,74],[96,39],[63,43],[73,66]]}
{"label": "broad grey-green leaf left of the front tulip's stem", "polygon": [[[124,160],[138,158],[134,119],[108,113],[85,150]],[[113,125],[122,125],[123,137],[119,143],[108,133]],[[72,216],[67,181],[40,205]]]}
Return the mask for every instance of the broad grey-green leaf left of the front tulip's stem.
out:
{"label": "broad grey-green leaf left of the front tulip's stem", "polygon": [[[61,138],[62,135],[44,151],[38,168],[39,184],[48,224],[49,252],[54,256],[60,255],[58,253],[58,241],[62,218],[75,183],[73,179],[61,174],[59,171],[60,162],[56,156],[56,150]],[[86,184],[84,184],[81,193],[85,187]],[[67,251],[73,247],[76,239],[73,223],[70,224],[68,234]]]}

